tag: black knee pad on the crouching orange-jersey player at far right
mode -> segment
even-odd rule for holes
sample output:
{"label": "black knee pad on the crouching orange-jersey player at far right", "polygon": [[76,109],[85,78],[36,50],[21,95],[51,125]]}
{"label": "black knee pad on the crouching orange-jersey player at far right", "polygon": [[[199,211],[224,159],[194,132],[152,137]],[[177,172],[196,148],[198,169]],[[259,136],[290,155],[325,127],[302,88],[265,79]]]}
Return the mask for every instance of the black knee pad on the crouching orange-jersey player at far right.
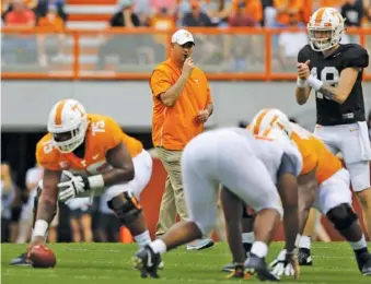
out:
{"label": "black knee pad on the crouching orange-jersey player at far right", "polygon": [[332,209],[326,215],[337,230],[349,228],[358,220],[357,214],[346,203]]}

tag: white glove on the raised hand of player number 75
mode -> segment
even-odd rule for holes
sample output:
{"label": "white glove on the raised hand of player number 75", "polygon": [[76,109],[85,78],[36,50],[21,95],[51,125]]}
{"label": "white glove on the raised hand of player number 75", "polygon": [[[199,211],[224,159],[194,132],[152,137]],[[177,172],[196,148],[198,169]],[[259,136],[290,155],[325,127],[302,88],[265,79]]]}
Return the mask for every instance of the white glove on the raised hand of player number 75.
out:
{"label": "white glove on the raised hand of player number 75", "polygon": [[74,176],[72,173],[65,170],[63,174],[70,179],[58,184],[59,200],[67,202],[86,190],[86,179],[81,176]]}

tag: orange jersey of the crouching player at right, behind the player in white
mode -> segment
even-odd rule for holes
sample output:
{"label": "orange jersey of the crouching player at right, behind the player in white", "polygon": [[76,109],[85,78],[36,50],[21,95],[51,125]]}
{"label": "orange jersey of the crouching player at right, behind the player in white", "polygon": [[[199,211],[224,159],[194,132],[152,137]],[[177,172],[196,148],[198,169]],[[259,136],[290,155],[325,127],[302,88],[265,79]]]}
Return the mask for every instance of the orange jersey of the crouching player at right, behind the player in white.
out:
{"label": "orange jersey of the crouching player at right, behind the player in white", "polygon": [[[318,185],[321,185],[341,169],[341,162],[326,149],[320,139],[298,125],[290,125],[293,130],[292,140],[303,155],[303,171],[301,174],[309,173],[310,168],[313,169],[316,165],[316,179]],[[312,157],[305,158],[304,155],[308,155],[309,152],[312,153]]]}

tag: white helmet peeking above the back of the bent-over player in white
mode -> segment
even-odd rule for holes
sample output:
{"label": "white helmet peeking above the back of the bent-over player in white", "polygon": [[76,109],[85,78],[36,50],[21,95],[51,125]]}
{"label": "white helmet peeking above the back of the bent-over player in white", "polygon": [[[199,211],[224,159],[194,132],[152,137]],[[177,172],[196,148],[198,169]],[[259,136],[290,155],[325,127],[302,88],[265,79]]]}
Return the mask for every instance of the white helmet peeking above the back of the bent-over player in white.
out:
{"label": "white helmet peeking above the back of the bent-over player in white", "polygon": [[255,135],[271,138],[274,140],[291,140],[292,129],[290,120],[277,108],[264,108],[254,118],[248,127]]}

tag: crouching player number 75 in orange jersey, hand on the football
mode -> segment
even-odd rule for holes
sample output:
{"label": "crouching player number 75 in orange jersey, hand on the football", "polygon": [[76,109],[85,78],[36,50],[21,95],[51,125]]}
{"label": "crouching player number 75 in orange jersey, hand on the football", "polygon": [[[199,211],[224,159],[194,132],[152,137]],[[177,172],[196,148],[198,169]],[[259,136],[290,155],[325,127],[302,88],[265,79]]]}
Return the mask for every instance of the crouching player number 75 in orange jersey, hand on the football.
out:
{"label": "crouching player number 75 in orange jersey, hand on the football", "polygon": [[86,114],[74,99],[58,102],[51,109],[48,133],[37,143],[36,159],[44,168],[35,224],[28,250],[45,244],[57,201],[101,196],[139,247],[150,235],[138,202],[152,174],[152,158],[141,142],[125,134],[112,118]]}

